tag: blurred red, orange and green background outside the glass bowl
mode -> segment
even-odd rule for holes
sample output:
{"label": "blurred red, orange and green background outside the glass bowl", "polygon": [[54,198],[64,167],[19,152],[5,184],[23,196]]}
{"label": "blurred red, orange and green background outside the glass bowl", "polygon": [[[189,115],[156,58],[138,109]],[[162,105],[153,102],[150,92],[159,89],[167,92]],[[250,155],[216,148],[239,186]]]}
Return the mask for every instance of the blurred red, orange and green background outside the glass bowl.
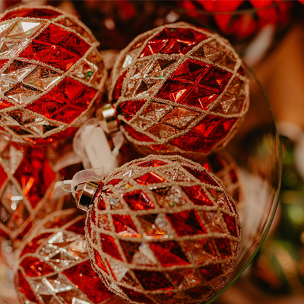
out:
{"label": "blurred red, orange and green background outside the glass bowl", "polygon": [[[274,111],[283,175],[280,204],[267,239],[244,274],[215,303],[304,303],[303,4],[291,0],[1,0],[0,10],[21,3],[51,4],[77,15],[100,41],[101,50],[113,50],[107,53],[112,60],[136,35],[175,21],[205,26],[229,39],[255,73]],[[263,125],[253,125],[253,134],[269,127],[267,117]],[[5,275],[0,267],[0,276]]]}

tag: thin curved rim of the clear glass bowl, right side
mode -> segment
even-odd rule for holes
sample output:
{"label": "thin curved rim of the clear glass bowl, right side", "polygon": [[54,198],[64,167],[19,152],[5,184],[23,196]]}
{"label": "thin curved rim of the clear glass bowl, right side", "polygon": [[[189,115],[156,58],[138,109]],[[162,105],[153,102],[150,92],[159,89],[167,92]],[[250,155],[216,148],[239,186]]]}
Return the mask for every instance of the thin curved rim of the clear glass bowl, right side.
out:
{"label": "thin curved rim of the clear glass bowl, right side", "polygon": [[260,84],[260,81],[258,80],[258,78],[256,77],[256,74],[253,73],[252,69],[245,62],[243,62],[243,64],[244,64],[244,66],[246,66],[246,68],[248,69],[248,71],[251,73],[251,75],[253,76],[254,80],[256,80],[256,83],[258,84],[258,87],[259,87],[260,91],[262,92],[262,95],[265,97],[265,101],[267,102],[267,106],[268,106],[268,109],[270,111],[271,117],[274,120],[275,133],[276,133],[276,141],[278,143],[278,189],[276,190],[276,195],[274,195],[274,210],[273,210],[273,212],[271,214],[268,226],[265,229],[265,233],[262,235],[262,239],[260,240],[260,243],[258,244],[258,247],[253,252],[253,254],[249,258],[249,260],[247,261],[247,263],[244,265],[244,267],[240,270],[240,272],[231,281],[229,281],[229,283],[219,293],[217,293],[215,296],[213,296],[213,298],[211,298],[205,304],[212,303],[217,298],[219,298],[222,294],[224,294],[224,292],[226,292],[226,290],[229,289],[229,287],[231,287],[231,285],[233,285],[233,283],[235,283],[235,281],[238,280],[238,278],[240,278],[240,276],[245,271],[245,269],[247,269],[247,267],[250,265],[250,263],[252,262],[253,258],[256,256],[256,254],[260,250],[260,247],[262,246],[262,243],[265,241],[265,238],[267,237],[267,234],[268,234],[269,229],[271,227],[272,221],[274,220],[274,215],[276,214],[276,209],[278,208],[278,202],[279,202],[279,192],[280,192],[280,185],[281,185],[281,179],[282,179],[282,146],[280,145],[280,137],[278,135],[278,128],[277,128],[277,125],[276,125],[276,118],[274,116],[274,112],[272,111],[272,108],[271,108],[270,102],[269,102],[269,100],[267,98],[267,95],[265,93],[265,90],[262,87],[262,84]]}

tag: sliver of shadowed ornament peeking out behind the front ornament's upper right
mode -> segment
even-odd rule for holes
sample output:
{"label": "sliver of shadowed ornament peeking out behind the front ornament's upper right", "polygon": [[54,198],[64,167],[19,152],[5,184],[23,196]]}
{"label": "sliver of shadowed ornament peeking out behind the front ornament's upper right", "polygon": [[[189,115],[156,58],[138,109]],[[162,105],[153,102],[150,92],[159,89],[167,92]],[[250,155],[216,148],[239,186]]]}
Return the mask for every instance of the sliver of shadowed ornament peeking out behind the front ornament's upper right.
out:
{"label": "sliver of shadowed ornament peeking out behind the front ornament's upper right", "polygon": [[223,182],[226,191],[233,198],[240,213],[240,208],[243,208],[244,203],[244,191],[242,190],[241,181],[242,172],[233,157],[227,152],[221,151],[211,153],[208,157],[199,161],[199,163]]}

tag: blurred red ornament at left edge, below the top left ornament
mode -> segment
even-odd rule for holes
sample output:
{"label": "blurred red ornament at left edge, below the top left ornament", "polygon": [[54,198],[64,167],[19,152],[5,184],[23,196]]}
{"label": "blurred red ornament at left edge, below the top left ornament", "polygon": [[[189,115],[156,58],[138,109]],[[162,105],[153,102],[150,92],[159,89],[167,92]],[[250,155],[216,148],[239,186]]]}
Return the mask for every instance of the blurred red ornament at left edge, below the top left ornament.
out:
{"label": "blurred red ornament at left edge, below the top left ornament", "polygon": [[51,167],[45,147],[0,141],[0,236],[16,242],[28,232],[35,217],[60,208],[51,199],[60,175]]}

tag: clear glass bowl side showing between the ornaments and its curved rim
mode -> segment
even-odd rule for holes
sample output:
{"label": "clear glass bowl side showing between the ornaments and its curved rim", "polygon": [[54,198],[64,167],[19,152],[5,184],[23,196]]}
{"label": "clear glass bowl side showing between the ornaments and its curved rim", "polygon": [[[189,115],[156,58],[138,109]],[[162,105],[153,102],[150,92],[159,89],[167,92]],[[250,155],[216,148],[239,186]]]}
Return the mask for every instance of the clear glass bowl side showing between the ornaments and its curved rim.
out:
{"label": "clear glass bowl side showing between the ornaments and its curved rim", "polygon": [[251,80],[251,105],[240,130],[224,150],[229,152],[243,175],[244,210],[242,242],[234,271],[226,286],[207,303],[212,303],[237,280],[260,249],[278,206],[281,151],[271,106],[255,75]]}

